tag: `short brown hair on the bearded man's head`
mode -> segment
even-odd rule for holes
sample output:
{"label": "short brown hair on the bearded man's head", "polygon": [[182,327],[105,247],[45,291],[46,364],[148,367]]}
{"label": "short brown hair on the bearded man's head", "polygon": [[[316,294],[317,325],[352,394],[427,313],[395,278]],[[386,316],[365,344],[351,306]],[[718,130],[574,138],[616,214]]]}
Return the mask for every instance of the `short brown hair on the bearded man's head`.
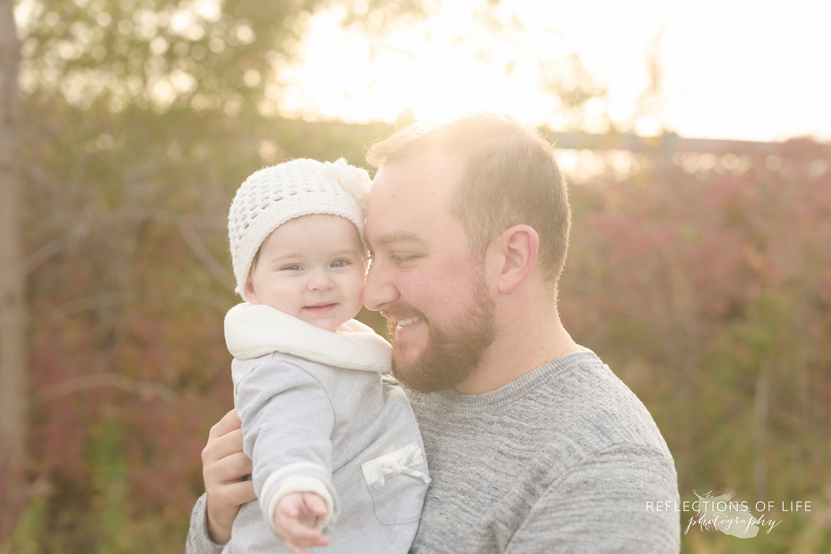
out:
{"label": "short brown hair on the bearded man's head", "polygon": [[411,125],[367,148],[373,167],[440,153],[465,157],[465,176],[450,211],[484,258],[490,241],[525,224],[539,236],[543,277],[557,283],[565,265],[571,208],[553,148],[534,129],[505,115],[476,114],[438,127]]}

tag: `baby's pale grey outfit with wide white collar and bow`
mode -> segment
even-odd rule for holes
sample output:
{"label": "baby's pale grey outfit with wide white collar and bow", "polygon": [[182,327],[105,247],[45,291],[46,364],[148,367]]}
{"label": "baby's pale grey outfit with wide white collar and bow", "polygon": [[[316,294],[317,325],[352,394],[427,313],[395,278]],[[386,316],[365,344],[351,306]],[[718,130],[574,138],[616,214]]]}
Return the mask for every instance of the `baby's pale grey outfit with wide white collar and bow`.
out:
{"label": "baby's pale grey outfit with wide white collar and bow", "polygon": [[246,303],[225,338],[258,501],[240,508],[223,552],[288,552],[265,514],[298,491],[327,503],[327,554],[407,552],[429,478],[406,396],[382,377],[386,341],[355,320],[330,333]]}

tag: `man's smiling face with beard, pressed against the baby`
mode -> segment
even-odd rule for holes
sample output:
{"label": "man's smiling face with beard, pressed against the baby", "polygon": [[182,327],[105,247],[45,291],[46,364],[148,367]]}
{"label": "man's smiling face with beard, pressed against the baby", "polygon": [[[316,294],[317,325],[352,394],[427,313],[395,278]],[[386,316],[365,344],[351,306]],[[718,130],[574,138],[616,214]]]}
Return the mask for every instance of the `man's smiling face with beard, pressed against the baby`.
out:
{"label": "man's smiling face with beard, pressed against the baby", "polygon": [[366,215],[364,304],[387,318],[393,372],[418,391],[465,381],[494,338],[484,267],[450,213],[464,166],[425,155],[381,166]]}

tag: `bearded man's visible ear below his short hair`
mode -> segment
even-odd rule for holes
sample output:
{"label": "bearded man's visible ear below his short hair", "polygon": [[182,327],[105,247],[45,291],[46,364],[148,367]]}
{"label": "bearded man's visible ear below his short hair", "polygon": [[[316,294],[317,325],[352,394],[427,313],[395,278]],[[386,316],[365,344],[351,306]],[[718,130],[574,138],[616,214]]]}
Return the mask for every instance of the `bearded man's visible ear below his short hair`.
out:
{"label": "bearded man's visible ear below his short hair", "polygon": [[488,250],[496,289],[499,294],[511,294],[537,265],[539,236],[534,227],[514,225],[502,231]]}

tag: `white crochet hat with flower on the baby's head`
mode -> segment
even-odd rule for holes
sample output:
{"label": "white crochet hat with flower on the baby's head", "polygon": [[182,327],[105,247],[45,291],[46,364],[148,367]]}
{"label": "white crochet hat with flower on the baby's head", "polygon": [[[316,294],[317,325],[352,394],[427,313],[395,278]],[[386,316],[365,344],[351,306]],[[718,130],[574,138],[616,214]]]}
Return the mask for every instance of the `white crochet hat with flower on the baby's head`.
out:
{"label": "white crochet hat with flower on the baby's head", "polygon": [[240,185],[228,214],[236,292],[245,298],[245,282],[254,256],[272,231],[295,217],[322,213],[346,217],[363,238],[369,174],[343,158],[321,163],[301,158],[260,169]]}

